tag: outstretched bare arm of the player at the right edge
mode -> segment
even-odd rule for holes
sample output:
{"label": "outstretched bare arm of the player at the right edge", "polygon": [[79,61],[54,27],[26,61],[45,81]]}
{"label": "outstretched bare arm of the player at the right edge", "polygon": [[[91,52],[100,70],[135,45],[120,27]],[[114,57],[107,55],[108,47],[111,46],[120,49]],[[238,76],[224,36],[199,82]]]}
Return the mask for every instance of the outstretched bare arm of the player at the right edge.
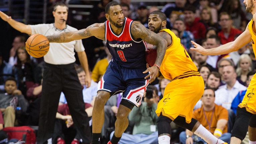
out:
{"label": "outstretched bare arm of the player at the right edge", "polygon": [[236,40],[226,43],[224,45],[218,46],[216,48],[205,49],[194,41],[191,41],[194,45],[194,48],[190,48],[191,50],[195,50],[203,55],[221,55],[227,54],[233,51],[237,51],[247,43],[251,41],[251,34],[248,29],[248,25],[245,31],[239,35]]}

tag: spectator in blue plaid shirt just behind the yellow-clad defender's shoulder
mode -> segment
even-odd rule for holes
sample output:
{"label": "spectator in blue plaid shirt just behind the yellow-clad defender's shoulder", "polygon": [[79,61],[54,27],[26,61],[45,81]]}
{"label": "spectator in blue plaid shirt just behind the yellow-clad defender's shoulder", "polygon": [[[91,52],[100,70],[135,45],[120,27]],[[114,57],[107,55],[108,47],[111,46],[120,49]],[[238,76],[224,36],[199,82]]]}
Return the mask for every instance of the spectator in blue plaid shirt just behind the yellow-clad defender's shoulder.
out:
{"label": "spectator in blue plaid shirt just behind the yellow-clad defender's shoulder", "polygon": [[194,40],[194,35],[190,31],[186,30],[184,20],[176,19],[173,23],[173,28],[176,28],[179,31],[179,38],[181,39],[181,43],[183,44],[185,49],[189,51],[189,49],[193,47],[191,40]]}

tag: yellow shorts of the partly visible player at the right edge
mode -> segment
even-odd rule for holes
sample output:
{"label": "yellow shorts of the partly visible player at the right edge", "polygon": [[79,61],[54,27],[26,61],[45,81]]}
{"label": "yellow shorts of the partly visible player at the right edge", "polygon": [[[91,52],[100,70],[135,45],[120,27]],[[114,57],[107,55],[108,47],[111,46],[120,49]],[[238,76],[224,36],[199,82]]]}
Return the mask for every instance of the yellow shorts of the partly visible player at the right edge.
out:
{"label": "yellow shorts of the partly visible player at the right edge", "polygon": [[254,75],[245,93],[240,108],[246,108],[246,111],[256,114],[256,76]]}

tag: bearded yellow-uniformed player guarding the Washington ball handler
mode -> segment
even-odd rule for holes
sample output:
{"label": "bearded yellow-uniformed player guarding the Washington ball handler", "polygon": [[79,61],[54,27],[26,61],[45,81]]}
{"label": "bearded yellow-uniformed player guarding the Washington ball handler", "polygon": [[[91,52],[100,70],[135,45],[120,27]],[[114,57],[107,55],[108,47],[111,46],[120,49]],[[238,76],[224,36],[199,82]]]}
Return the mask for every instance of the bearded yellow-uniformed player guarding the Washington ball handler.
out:
{"label": "bearded yellow-uniformed player guarding the Washington ball handler", "polygon": [[[165,88],[164,97],[157,104],[158,143],[170,144],[172,121],[194,132],[209,144],[225,143],[192,118],[193,108],[203,95],[203,78],[180,39],[166,29],[166,15],[161,11],[153,11],[148,17],[148,27],[168,42],[159,75],[172,80]],[[190,143],[191,139],[192,136],[188,135],[186,143]]]}

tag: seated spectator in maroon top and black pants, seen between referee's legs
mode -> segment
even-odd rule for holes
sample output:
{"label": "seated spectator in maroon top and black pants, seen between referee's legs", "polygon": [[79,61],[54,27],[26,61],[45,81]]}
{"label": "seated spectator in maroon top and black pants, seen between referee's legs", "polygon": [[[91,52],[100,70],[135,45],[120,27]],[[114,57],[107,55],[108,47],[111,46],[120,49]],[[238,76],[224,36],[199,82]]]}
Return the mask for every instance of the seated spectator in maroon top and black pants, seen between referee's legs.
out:
{"label": "seated spectator in maroon top and black pants, seen between referee's legs", "polygon": [[[92,106],[89,103],[84,103],[85,112],[88,117],[92,115]],[[87,118],[88,118],[87,117]],[[80,136],[76,133],[73,126],[73,120],[69,112],[67,104],[59,105],[56,113],[56,121],[54,126],[53,143],[57,144],[79,144]],[[71,142],[72,141],[72,142]]]}

